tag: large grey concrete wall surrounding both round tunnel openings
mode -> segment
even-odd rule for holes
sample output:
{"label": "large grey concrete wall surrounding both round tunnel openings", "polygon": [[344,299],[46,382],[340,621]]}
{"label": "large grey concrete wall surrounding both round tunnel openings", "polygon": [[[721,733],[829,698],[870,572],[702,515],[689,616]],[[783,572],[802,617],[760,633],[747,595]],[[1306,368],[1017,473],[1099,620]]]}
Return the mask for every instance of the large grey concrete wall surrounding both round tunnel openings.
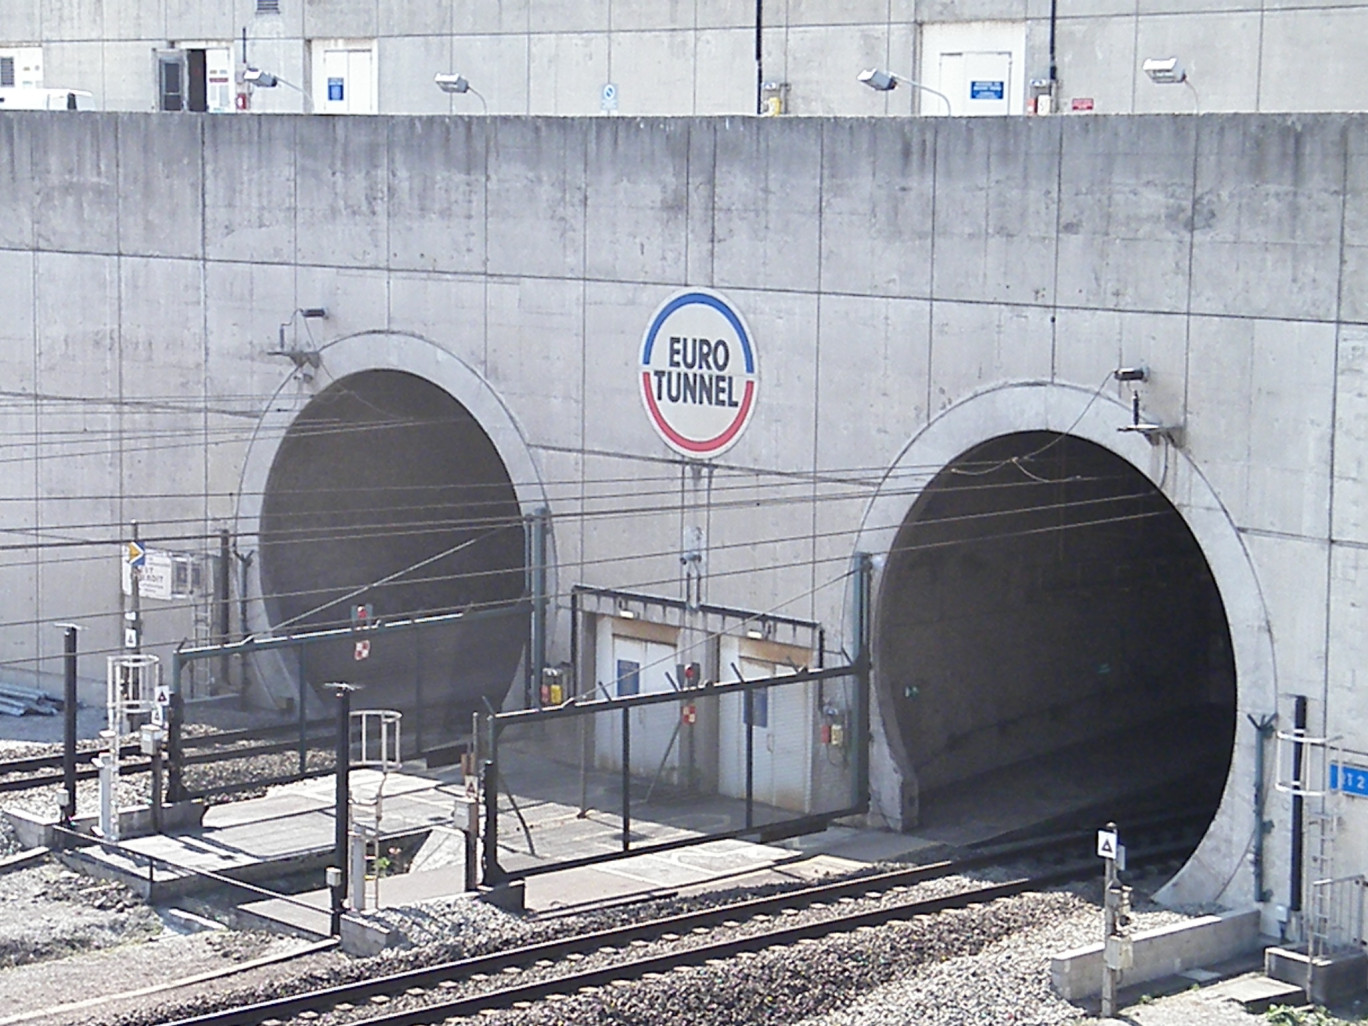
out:
{"label": "large grey concrete wall surrounding both round tunnel openings", "polygon": [[[852,554],[888,550],[928,469],[1070,431],[1163,490],[1222,590],[1234,769],[1174,893],[1246,902],[1245,714],[1305,694],[1368,763],[1365,156],[1368,120],[1332,115],[0,116],[0,665],[55,668],[63,620],[118,646],[130,520],[167,547],[228,524],[250,550],[280,432],[360,369],[475,413],[524,508],[557,516],[562,594],[680,595],[699,527],[703,601],[819,621],[833,653]],[[636,393],[648,317],[684,286],[725,293],[759,350],[751,425],[707,473]],[[328,312],[287,331],[321,356],[309,380],[271,354],[301,306]],[[1118,434],[1108,376],[1133,364],[1181,445]],[[155,646],[192,631],[186,609],[148,622]],[[1365,843],[1350,804],[1339,871]]]}

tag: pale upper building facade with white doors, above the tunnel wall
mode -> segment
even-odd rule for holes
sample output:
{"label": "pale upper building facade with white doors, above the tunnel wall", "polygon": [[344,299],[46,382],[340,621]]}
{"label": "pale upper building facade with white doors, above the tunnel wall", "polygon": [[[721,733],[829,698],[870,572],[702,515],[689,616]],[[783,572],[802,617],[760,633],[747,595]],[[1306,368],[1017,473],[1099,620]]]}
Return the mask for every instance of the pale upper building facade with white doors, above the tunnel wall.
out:
{"label": "pale upper building facade with white doors, above the tunnel wall", "polygon": [[[5,0],[0,92],[108,111],[1360,111],[1365,40],[1353,0]],[[1174,59],[1181,81],[1144,70]],[[873,93],[870,67],[925,89]]]}

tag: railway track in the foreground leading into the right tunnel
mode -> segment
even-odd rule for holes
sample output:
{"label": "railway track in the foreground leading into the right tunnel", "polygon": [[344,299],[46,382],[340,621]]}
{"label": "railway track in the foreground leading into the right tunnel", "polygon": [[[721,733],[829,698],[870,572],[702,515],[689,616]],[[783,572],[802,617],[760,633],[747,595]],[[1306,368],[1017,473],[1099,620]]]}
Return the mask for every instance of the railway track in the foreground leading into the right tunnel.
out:
{"label": "railway track in the foreground leading into the right tunnel", "polygon": [[[283,1023],[297,1016],[312,1019],[330,1012],[354,1014],[358,1005],[394,1004],[372,1018],[357,1018],[356,1026],[417,1026],[450,1018],[473,1015],[486,1008],[510,1008],[553,995],[573,995],[616,981],[640,979],[681,966],[731,960],[746,952],[758,952],[833,933],[874,928],[895,921],[934,915],[951,908],[985,904],[1055,884],[1077,880],[1097,871],[1097,860],[1077,859],[1088,850],[1090,834],[1073,834],[1034,845],[1018,844],[1012,858],[1057,859],[1066,844],[1073,859],[1063,865],[1015,876],[1011,880],[981,886],[966,886],[951,895],[933,897],[903,895],[918,884],[951,874],[960,874],[992,865],[1001,865],[1001,854],[982,854],[967,859],[943,860],[906,870],[873,874],[856,880],[788,891],[766,897],[732,902],[710,908],[680,912],[663,918],[613,926],[572,937],[542,941],[518,948],[491,952],[435,966],[408,970],[386,977],[361,979],[309,993],[279,997],[245,1007],[179,1019],[172,1026],[246,1026],[248,1023]],[[1189,851],[1192,843],[1167,843],[1148,851],[1133,851],[1133,865],[1144,859],[1172,858]],[[799,910],[819,910],[815,919],[787,922]],[[741,923],[748,926],[744,929]],[[755,929],[761,925],[759,929]],[[702,934],[718,932],[725,936]],[[663,951],[643,951],[643,945],[665,945]],[[577,962],[592,952],[613,949],[610,966],[581,967]],[[508,981],[498,985],[498,975]],[[458,993],[456,993],[458,990]],[[401,1007],[402,1005],[402,1007]]]}

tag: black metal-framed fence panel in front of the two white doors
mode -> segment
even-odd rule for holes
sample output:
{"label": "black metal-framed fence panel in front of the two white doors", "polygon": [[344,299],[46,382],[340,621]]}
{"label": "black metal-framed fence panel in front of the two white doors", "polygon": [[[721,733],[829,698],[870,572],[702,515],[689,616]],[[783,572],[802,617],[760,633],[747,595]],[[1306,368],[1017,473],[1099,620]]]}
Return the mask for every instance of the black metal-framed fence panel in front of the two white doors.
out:
{"label": "black metal-framed fence panel in front of the two white doors", "polygon": [[840,666],[483,717],[484,882],[865,811],[866,680]]}

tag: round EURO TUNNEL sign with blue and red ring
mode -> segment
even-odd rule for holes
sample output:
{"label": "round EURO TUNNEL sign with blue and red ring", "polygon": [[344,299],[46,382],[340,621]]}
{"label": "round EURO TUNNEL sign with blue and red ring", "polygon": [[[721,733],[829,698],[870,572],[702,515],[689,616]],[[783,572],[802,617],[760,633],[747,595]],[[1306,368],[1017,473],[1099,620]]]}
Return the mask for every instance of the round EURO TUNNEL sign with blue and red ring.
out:
{"label": "round EURO TUNNEL sign with blue and red ring", "polygon": [[746,430],[759,387],[755,343],[721,295],[692,289],[670,297],[642,339],[642,402],[665,443],[705,460]]}

